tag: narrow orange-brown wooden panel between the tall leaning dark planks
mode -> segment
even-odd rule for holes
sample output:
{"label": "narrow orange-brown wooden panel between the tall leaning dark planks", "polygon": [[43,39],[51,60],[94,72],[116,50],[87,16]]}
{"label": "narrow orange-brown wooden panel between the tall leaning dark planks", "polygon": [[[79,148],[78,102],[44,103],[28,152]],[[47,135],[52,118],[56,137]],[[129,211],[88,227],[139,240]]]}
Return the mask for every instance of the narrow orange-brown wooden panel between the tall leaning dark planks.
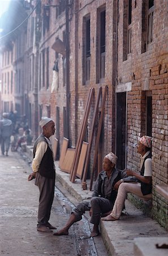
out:
{"label": "narrow orange-brown wooden panel between the tall leaning dark planks", "polygon": [[83,176],[83,168],[84,168],[85,158],[87,156],[88,144],[89,144],[88,142],[83,141],[82,146],[81,146],[79,163],[78,163],[77,171],[76,171],[76,176],[79,177],[80,179]]}

